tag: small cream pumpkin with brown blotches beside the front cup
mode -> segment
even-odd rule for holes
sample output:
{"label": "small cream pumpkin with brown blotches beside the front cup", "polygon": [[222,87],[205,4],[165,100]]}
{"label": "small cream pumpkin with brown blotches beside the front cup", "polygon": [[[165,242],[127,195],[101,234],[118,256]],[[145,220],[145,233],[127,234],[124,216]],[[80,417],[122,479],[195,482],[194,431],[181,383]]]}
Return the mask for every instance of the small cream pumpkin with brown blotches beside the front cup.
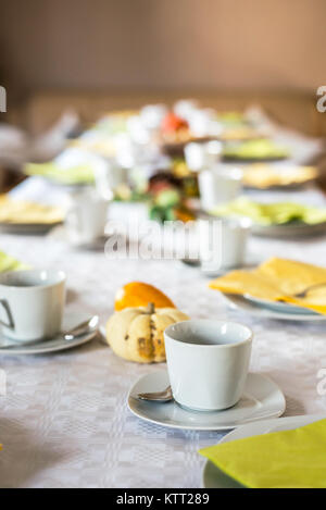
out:
{"label": "small cream pumpkin with brown blotches beside the front cup", "polygon": [[126,308],[106,324],[106,341],[115,354],[138,363],[165,361],[164,329],[189,318],[176,308]]}

